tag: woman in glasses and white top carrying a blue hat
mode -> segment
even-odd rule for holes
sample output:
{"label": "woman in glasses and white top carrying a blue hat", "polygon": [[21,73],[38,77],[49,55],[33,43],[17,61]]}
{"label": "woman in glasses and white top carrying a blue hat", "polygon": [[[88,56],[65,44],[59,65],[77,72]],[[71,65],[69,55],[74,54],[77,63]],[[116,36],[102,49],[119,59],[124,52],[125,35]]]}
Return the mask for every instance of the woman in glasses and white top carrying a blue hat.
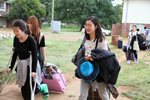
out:
{"label": "woman in glasses and white top carrying a blue hat", "polygon": [[[85,55],[93,61],[92,57],[89,55],[91,50],[95,49],[96,41],[98,41],[97,49],[108,50],[107,41],[102,33],[100,23],[98,18],[95,16],[88,17],[85,23]],[[98,92],[102,100],[109,100],[109,95],[107,93],[105,82],[85,82],[81,79],[80,83],[80,96],[79,100],[87,100],[88,90],[90,86],[98,87]]]}

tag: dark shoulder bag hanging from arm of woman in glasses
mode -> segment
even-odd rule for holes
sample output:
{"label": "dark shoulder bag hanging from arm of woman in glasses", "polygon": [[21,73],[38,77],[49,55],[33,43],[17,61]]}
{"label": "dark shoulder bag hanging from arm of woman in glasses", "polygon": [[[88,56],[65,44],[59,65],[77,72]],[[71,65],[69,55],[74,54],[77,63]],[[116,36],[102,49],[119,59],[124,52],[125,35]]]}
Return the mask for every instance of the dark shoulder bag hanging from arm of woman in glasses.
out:
{"label": "dark shoulder bag hanging from arm of woman in glasses", "polygon": [[82,57],[84,57],[84,55],[85,55],[85,47],[84,47],[84,43],[85,43],[85,41],[86,41],[86,39],[85,39],[85,37],[83,38],[83,41],[82,41],[82,43],[81,43],[81,45],[80,45],[80,48],[78,49],[78,51],[77,51],[77,53],[72,57],[72,63],[74,64],[74,65],[78,65],[78,62],[79,62],[79,60],[82,58]]}

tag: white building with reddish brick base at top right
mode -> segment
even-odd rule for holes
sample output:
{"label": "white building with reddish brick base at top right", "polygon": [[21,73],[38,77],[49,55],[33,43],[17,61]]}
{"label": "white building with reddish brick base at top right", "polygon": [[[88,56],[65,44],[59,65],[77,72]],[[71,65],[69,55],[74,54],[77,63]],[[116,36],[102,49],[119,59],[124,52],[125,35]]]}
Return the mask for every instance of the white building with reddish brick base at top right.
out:
{"label": "white building with reddish brick base at top right", "polygon": [[132,25],[137,25],[140,33],[144,32],[144,26],[150,28],[150,0],[123,1],[121,35],[127,37]]}

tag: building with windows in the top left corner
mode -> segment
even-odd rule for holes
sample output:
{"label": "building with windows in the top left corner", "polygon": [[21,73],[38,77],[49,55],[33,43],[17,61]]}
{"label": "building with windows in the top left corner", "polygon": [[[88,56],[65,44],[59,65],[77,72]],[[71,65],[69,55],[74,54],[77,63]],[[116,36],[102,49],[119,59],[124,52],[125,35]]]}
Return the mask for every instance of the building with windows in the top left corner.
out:
{"label": "building with windows in the top left corner", "polygon": [[10,11],[11,0],[0,0],[0,27],[8,27],[7,14]]}

